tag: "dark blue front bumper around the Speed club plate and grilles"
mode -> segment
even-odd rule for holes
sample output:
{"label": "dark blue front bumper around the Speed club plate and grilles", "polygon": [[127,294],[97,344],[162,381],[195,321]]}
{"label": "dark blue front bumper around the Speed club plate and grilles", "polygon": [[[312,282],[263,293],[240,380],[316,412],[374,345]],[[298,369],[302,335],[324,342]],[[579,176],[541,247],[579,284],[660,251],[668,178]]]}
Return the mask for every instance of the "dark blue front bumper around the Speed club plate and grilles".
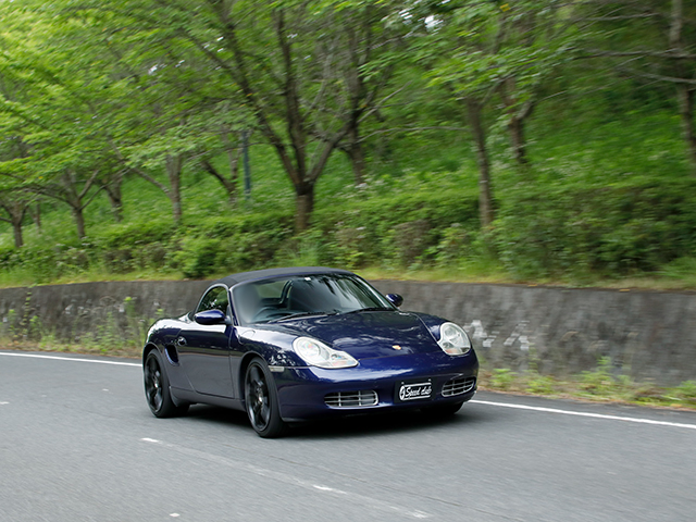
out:
{"label": "dark blue front bumper around the Speed club plate and grilles", "polygon": [[[355,368],[325,370],[315,366],[276,368],[273,373],[278,390],[281,417],[284,421],[301,421],[331,415],[346,415],[427,408],[430,406],[465,402],[476,391],[478,361],[471,350],[465,356],[451,357],[444,352],[403,355],[362,359]],[[456,387],[452,381],[467,381],[467,386]],[[472,382],[473,380],[473,382]],[[402,382],[428,382],[428,398],[400,401],[398,387]],[[471,386],[469,386],[471,385]],[[445,394],[443,391],[445,390]],[[328,406],[330,394],[374,391],[374,400],[363,406]],[[334,400],[330,400],[335,405]]]}

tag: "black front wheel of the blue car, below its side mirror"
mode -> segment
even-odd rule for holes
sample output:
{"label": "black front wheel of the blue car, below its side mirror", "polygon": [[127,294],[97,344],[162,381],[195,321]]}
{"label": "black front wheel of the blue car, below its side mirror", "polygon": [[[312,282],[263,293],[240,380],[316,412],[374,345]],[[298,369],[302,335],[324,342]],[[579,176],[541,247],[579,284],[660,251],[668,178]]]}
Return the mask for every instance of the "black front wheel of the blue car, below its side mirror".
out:
{"label": "black front wheel of the blue car, below its side mirror", "polygon": [[244,380],[244,400],[251,427],[263,438],[279,437],[287,430],[281,419],[278,394],[269,366],[252,360]]}

